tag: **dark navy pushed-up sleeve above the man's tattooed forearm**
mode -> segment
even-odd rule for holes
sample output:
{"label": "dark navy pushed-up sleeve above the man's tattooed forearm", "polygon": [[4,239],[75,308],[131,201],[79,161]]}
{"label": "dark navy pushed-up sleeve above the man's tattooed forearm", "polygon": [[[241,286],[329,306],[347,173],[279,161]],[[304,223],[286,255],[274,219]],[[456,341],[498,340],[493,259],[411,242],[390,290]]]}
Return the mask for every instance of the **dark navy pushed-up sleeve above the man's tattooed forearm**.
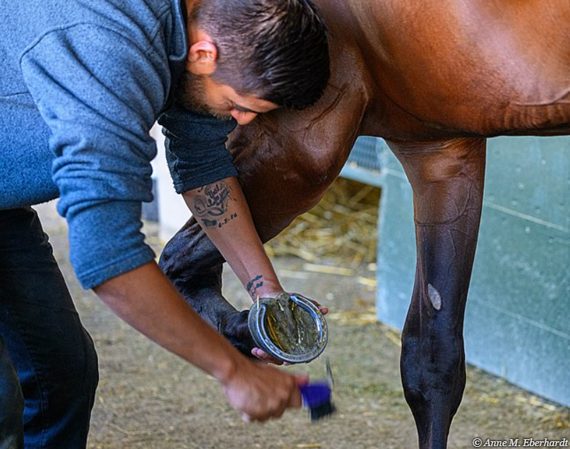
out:
{"label": "dark navy pushed-up sleeve above the man's tattooed forearm", "polygon": [[166,158],[177,193],[237,177],[225,146],[227,134],[237,125],[234,119],[218,119],[174,105],[158,123],[166,137]]}

